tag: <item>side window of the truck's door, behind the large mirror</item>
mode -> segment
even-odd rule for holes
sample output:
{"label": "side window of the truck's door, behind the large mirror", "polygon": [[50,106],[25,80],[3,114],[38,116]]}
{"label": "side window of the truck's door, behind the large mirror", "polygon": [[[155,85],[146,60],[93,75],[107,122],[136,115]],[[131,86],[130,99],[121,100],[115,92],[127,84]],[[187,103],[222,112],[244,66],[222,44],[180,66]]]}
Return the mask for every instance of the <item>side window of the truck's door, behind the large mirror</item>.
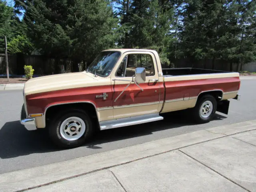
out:
{"label": "side window of the truck's door, behind the large mirror", "polygon": [[124,60],[116,72],[118,77],[132,77],[135,75],[136,67],[144,67],[146,76],[154,76],[155,74],[153,60],[149,54],[129,54]]}

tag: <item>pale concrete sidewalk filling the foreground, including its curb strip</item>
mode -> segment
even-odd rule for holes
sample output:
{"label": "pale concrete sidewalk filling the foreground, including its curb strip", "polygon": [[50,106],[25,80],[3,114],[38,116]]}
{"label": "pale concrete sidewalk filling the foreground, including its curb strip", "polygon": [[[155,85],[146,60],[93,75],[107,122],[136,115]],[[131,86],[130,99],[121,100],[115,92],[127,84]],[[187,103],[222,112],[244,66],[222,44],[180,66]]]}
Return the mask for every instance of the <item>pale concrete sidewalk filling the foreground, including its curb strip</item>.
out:
{"label": "pale concrete sidewalk filling the foreground, including its curb strip", "polygon": [[255,159],[252,120],[0,174],[0,191],[253,192]]}

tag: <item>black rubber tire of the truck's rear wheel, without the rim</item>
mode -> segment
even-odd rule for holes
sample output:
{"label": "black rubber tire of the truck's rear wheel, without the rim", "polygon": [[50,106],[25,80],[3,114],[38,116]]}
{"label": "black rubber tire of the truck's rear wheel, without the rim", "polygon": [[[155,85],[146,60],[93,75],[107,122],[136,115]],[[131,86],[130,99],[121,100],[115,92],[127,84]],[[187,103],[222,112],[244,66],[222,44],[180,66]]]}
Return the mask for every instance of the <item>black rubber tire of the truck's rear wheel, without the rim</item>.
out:
{"label": "black rubber tire of the truck's rear wheel, without the rim", "polygon": [[[206,112],[206,116],[202,116],[201,114],[201,106],[205,103],[209,101],[208,103],[212,103],[212,111],[210,112],[210,114],[207,114],[207,110],[202,110],[203,112]],[[204,105],[206,106],[206,105]],[[212,96],[212,95],[204,95],[202,96],[202,98],[200,98],[200,100],[198,100],[198,102],[196,102],[196,106],[193,108],[192,114],[194,117],[194,121],[196,123],[207,123],[210,120],[212,120],[212,118],[215,116],[215,112],[216,112],[216,108],[217,108],[217,101],[216,99]]]}

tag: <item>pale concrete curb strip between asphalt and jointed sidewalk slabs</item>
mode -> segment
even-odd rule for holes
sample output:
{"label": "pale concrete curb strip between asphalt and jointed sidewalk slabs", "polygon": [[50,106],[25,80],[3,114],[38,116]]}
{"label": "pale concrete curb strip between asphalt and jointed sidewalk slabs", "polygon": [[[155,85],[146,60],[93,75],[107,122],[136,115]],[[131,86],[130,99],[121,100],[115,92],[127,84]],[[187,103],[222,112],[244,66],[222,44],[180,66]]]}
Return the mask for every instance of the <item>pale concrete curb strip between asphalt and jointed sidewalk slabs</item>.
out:
{"label": "pale concrete curb strip between asphalt and jointed sidewalk slabs", "polygon": [[250,130],[256,130],[256,120],[200,130],[64,162],[7,172],[0,174],[0,189],[2,192],[10,192],[38,188]]}

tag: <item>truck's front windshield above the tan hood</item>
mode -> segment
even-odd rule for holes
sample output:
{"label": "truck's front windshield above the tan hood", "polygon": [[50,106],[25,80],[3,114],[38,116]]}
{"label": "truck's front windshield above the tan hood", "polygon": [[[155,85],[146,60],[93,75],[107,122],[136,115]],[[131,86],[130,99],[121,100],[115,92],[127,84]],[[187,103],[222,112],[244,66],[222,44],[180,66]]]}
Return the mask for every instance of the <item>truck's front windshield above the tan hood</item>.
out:
{"label": "truck's front windshield above the tan hood", "polygon": [[106,77],[110,74],[120,56],[120,52],[104,51],[101,52],[90,64],[87,72],[98,76]]}

